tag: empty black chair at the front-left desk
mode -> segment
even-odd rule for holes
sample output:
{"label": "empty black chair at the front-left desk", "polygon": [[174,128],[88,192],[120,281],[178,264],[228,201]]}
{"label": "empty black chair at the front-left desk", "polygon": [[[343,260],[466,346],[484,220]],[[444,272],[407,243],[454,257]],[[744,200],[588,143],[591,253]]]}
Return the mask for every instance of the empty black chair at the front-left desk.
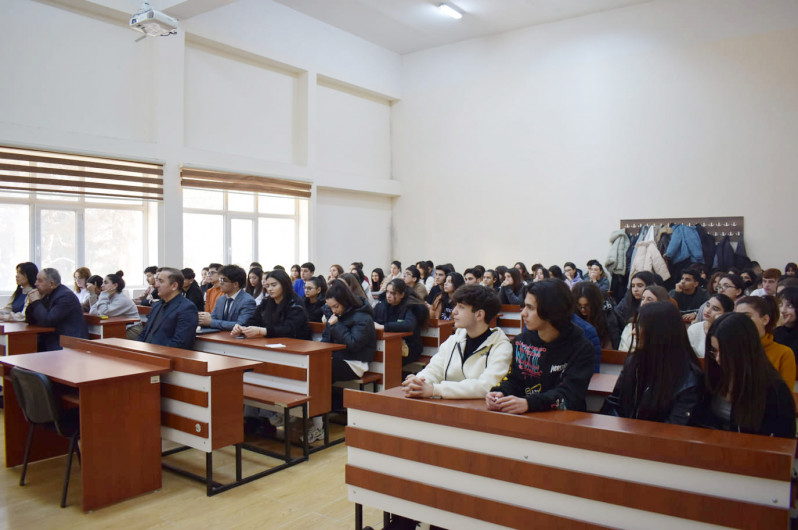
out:
{"label": "empty black chair at the front-left desk", "polygon": [[77,451],[80,460],[80,449],[77,446],[80,438],[80,421],[78,409],[63,411],[53,394],[50,379],[38,372],[31,372],[22,368],[11,370],[11,382],[14,393],[22,409],[22,414],[30,423],[28,440],[25,443],[25,457],[22,465],[22,477],[19,485],[25,485],[25,475],[28,472],[28,456],[31,442],[33,441],[34,427],[39,427],[69,438],[69,454],[67,456],[67,469],[64,475],[64,488],[61,494],[61,507],[66,507],[66,495],[69,488],[69,472],[72,469],[72,453]]}

